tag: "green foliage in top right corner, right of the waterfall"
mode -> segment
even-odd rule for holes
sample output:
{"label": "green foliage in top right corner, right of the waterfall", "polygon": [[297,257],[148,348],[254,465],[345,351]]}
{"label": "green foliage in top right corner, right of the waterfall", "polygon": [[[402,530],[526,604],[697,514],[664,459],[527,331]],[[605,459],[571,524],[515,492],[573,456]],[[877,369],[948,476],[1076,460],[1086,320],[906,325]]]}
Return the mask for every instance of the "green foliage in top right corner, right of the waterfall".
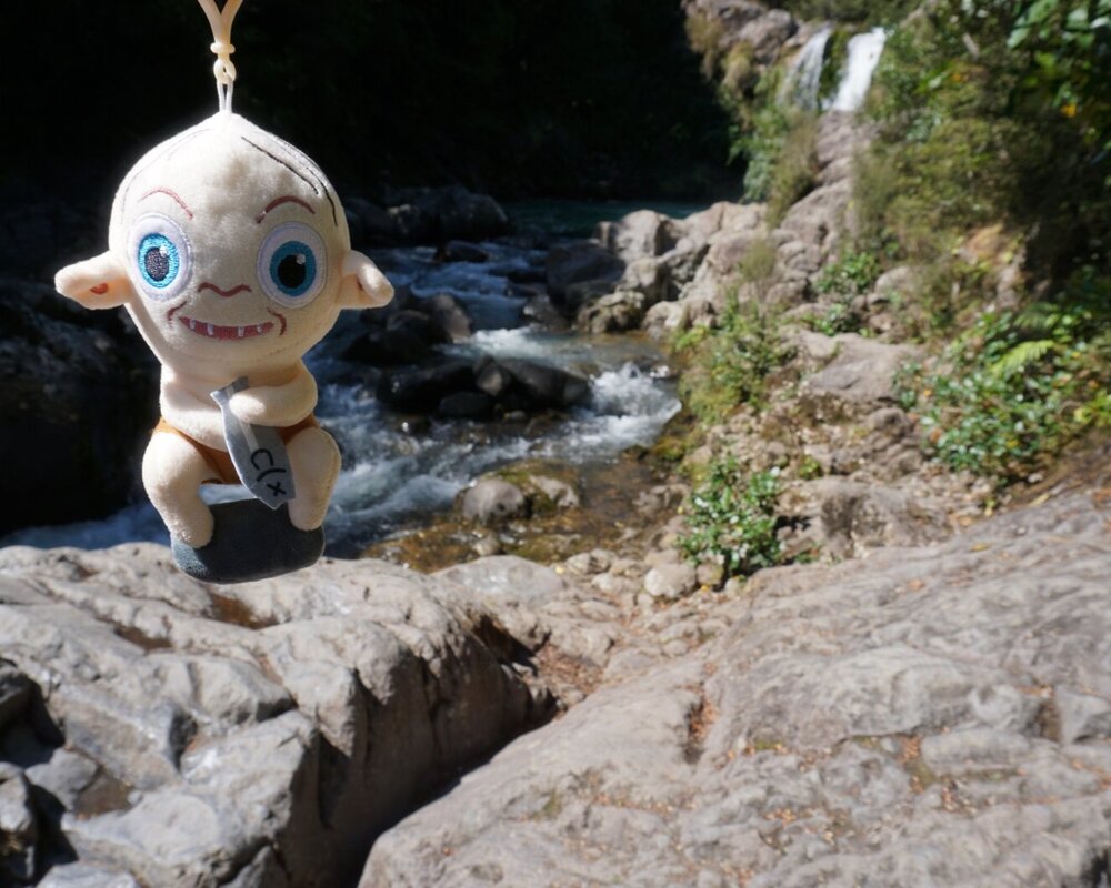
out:
{"label": "green foliage in top right corner, right of the waterfall", "polygon": [[858,178],[873,244],[932,261],[1004,221],[1065,280],[1109,264],[1111,0],[939,0],[897,29],[875,75],[879,138]]}

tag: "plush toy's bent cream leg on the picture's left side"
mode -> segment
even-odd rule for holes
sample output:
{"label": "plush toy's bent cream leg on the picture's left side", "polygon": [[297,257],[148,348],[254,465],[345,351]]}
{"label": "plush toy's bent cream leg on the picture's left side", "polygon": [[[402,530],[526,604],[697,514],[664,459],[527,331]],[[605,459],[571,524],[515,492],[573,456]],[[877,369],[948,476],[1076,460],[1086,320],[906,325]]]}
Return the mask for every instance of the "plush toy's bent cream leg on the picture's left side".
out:
{"label": "plush toy's bent cream leg on the picture's left side", "polygon": [[181,435],[156,432],[142,457],[142,483],[170,535],[193,548],[212,538],[212,512],[200,486],[216,478],[208,461]]}

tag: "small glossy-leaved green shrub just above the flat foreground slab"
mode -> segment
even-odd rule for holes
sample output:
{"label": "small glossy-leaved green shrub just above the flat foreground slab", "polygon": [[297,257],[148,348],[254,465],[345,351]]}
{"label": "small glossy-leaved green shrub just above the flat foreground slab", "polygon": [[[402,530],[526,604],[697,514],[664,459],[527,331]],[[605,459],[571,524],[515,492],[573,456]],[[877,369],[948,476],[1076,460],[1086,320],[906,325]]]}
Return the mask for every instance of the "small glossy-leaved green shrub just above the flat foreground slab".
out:
{"label": "small glossy-leaved green shrub just above the flat foreground slab", "polygon": [[783,561],[775,535],[779,478],[745,475],[733,458],[712,463],[687,507],[690,533],[679,545],[694,562],[713,561],[727,577],[749,576]]}

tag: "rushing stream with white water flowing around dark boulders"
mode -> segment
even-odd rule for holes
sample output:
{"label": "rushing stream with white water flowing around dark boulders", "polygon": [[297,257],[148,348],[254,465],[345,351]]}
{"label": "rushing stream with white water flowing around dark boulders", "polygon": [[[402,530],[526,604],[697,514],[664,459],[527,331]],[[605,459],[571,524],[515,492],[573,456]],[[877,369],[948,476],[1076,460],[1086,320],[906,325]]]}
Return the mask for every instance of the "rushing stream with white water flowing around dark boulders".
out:
{"label": "rushing stream with white water flowing around dark boulders", "polygon": [[[700,208],[661,209],[689,213]],[[598,219],[623,212],[625,208],[553,202],[522,205],[514,215],[523,220],[519,224],[541,224],[563,236],[589,233]],[[482,262],[438,262],[429,246],[368,252],[396,286],[407,285],[418,297],[450,293],[467,307],[473,335],[439,351],[524,359],[570,371],[589,380],[589,397],[550,418],[431,418],[413,433],[376,398],[378,372],[340,357],[366,331],[356,313],[344,313],[306,359],[320,390],[317,416],[343,454],[324,522],[329,555],[357,557],[372,543],[420,526],[450,509],[457,494],[479,475],[520,460],[551,460],[583,471],[604,467],[623,450],[651,444],[678,412],[674,382],[653,343],[637,335],[557,333],[528,322],[522,313],[528,296],[511,276],[542,278],[547,254],[528,244],[521,238],[481,243],[487,254]],[[210,485],[202,496],[221,502],[243,498],[247,492]],[[21,529],[0,538],[0,546],[102,548],[139,541],[168,542],[146,498],[100,521]]]}

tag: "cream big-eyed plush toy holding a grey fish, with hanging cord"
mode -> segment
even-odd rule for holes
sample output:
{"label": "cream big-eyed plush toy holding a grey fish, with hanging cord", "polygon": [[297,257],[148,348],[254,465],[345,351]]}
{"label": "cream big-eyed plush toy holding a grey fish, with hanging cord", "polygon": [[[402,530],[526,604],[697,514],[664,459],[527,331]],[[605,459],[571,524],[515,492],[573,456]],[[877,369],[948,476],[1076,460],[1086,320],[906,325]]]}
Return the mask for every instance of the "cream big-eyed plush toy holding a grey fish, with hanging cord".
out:
{"label": "cream big-eyed plush toy holding a grey fish, with hanging cord", "polygon": [[[89,309],[122,305],[162,365],[161,420],[143,486],[184,572],[213,582],[274,576],[323,549],[340,467],[313,417],[302,356],[341,309],[384,305],[393,289],[351,250],[343,209],[303,153],[231,111],[231,22],[212,26],[219,112],[149,151],[112,204],[108,252],[58,272]],[[206,483],[256,500],[210,507]]]}

